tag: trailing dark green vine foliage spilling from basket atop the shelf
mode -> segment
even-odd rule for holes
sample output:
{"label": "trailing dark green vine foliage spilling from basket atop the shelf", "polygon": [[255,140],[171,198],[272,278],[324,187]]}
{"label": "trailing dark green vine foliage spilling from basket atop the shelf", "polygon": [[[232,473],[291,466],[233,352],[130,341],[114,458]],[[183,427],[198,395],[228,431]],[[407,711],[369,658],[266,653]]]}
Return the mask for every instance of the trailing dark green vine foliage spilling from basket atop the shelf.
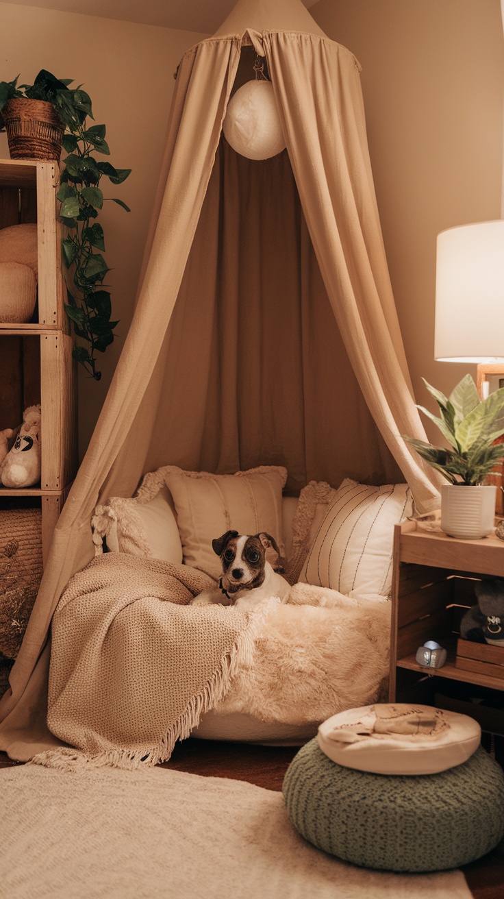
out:
{"label": "trailing dark green vine foliage spilling from basket atop the shelf", "polygon": [[[61,145],[67,154],[61,164],[57,191],[57,200],[61,202],[59,217],[67,228],[62,243],[68,270],[66,315],[79,339],[74,358],[95,380],[100,380],[96,353],[105,352],[113,342],[113,331],[119,322],[111,321],[111,294],[103,283],[110,268],[103,257],[105,238],[97,218],[108,201],[129,212],[123,200],[103,195],[100,182],[104,177],[114,185],[120,184],[131,169],[119,169],[96,158],[96,154],[110,156],[105,125],[88,124],[88,118],[93,120],[91,98],[82,85],[71,88],[72,84],[72,79],[56,78],[45,69],[40,70],[33,85],[18,85],[18,78],[0,82],[0,130],[4,129],[13,102],[42,102],[59,122]],[[42,147],[41,152],[44,151]],[[58,156],[28,154],[22,158]]]}

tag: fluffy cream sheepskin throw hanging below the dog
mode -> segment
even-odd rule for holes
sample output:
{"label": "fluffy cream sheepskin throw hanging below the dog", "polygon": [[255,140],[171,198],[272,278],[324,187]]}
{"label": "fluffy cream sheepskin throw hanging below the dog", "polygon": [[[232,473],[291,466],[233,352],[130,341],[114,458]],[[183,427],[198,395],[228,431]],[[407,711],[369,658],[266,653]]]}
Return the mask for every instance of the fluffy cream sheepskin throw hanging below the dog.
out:
{"label": "fluffy cream sheepskin throw hanging below the dog", "polygon": [[390,611],[385,597],[296,583],[287,605],[266,601],[251,663],[215,710],[302,725],[383,699]]}

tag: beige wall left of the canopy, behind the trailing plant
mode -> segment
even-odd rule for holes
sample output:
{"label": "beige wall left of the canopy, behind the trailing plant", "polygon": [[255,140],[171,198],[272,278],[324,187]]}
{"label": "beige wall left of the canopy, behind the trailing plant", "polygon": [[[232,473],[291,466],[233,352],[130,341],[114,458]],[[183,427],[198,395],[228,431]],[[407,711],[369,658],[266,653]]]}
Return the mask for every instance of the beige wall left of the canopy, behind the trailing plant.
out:
{"label": "beige wall left of the canopy, behind the trailing plant", "polygon": [[[164,132],[174,85],[173,72],[186,49],[205,35],[152,25],[118,22],[33,6],[0,3],[0,79],[21,73],[30,83],[40,68],[61,78],[75,78],[93,100],[94,119],[107,126],[110,161],[131,168],[128,181],[106,195],[128,203],[127,213],[115,203],[101,215],[105,258],[111,266],[112,317],[119,318],[118,337],[99,355],[102,380],[79,372],[79,444],[81,456],[111,383],[131,321],[138,272],[164,147]],[[0,135],[0,157],[8,156]],[[99,157],[102,159],[109,157]]]}

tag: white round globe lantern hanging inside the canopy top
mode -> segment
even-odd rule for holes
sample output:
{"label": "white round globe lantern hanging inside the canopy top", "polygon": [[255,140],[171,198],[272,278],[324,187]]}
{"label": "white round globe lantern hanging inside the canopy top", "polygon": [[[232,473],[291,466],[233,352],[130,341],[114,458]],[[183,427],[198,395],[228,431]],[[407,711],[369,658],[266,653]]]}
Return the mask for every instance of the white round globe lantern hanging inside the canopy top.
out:
{"label": "white round globe lantern hanging inside the canopy top", "polygon": [[270,81],[248,81],[230,100],[223,130],[227,143],[247,159],[270,159],[285,149]]}

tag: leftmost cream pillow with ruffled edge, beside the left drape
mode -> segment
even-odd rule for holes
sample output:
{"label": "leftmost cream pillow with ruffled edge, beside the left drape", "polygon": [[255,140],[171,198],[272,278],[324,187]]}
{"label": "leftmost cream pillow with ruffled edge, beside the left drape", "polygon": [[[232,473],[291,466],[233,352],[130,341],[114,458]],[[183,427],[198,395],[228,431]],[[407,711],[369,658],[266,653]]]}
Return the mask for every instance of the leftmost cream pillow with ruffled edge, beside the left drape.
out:
{"label": "leftmost cream pillow with ruffled edge, beside the left drape", "polygon": [[172,497],[159,472],[146,475],[132,499],[112,496],[96,506],[91,525],[97,553],[106,538],[111,552],[181,565],[182,546]]}

